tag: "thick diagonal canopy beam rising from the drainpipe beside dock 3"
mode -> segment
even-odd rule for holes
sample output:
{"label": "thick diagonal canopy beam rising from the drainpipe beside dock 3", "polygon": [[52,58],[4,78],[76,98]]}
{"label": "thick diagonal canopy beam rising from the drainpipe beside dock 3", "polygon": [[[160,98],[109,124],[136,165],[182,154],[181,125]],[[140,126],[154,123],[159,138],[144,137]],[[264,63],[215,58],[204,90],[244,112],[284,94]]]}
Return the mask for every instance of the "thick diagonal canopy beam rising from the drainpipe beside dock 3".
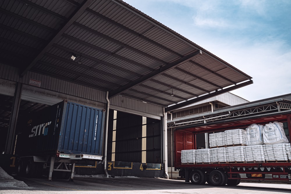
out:
{"label": "thick diagonal canopy beam rising from the drainpipe beside dock 3", "polygon": [[150,72],[149,74],[147,74],[147,75],[145,75],[145,76],[143,76],[143,77],[141,77],[141,78],[139,78],[139,79],[137,79],[135,81],[132,81],[131,83],[128,83],[123,87],[118,88],[118,90],[110,91],[109,92],[109,98],[112,98],[113,96],[116,96],[116,95],[124,92],[124,90],[131,89],[136,85],[144,83],[145,81],[148,81],[148,80],[152,79],[153,77],[168,71],[169,69],[175,68],[178,65],[180,65],[181,63],[184,63],[185,61],[190,60],[191,58],[193,58],[194,56],[196,56],[198,54],[202,54],[202,51],[201,50],[196,50],[196,51],[194,51],[193,53],[190,53],[187,56],[184,56],[184,57],[182,57],[182,58],[180,58],[180,59],[178,59],[178,60],[176,60],[176,61],[174,61],[172,63],[169,63],[169,65],[160,67],[159,69],[157,69],[157,70],[155,70],[153,72]]}

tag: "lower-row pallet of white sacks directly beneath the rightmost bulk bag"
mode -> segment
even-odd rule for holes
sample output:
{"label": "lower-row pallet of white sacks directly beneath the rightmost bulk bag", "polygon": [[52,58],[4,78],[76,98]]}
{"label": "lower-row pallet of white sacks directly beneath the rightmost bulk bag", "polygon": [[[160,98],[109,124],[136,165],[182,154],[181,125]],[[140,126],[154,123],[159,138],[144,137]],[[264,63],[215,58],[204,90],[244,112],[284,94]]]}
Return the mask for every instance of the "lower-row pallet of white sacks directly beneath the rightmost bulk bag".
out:
{"label": "lower-row pallet of white sacks directly beneath the rightmost bulk bag", "polygon": [[286,143],[263,145],[266,161],[287,161]]}

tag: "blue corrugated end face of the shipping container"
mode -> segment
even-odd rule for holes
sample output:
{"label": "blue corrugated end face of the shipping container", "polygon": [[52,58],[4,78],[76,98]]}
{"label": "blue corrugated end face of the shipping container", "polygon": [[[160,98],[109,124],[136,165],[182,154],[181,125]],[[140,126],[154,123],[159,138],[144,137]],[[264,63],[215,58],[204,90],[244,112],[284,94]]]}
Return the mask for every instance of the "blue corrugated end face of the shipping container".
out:
{"label": "blue corrugated end face of the shipping container", "polygon": [[104,110],[67,102],[58,152],[102,155]]}

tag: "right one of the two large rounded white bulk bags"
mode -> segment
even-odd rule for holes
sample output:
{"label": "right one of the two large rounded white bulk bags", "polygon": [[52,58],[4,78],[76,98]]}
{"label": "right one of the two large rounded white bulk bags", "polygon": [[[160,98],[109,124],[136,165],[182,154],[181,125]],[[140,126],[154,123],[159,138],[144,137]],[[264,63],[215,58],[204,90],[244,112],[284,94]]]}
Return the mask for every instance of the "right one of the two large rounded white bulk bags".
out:
{"label": "right one of the two large rounded white bulk bags", "polygon": [[265,144],[288,143],[283,123],[273,122],[263,127],[263,138]]}

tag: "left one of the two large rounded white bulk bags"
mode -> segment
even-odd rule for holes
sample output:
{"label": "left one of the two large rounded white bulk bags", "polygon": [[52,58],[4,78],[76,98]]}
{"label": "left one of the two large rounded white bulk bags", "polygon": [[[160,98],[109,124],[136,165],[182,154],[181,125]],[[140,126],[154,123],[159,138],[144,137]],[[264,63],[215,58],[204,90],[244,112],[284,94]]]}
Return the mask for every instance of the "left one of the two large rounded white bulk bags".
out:
{"label": "left one of the two large rounded white bulk bags", "polygon": [[260,145],[263,141],[263,125],[251,124],[246,128],[246,145]]}

